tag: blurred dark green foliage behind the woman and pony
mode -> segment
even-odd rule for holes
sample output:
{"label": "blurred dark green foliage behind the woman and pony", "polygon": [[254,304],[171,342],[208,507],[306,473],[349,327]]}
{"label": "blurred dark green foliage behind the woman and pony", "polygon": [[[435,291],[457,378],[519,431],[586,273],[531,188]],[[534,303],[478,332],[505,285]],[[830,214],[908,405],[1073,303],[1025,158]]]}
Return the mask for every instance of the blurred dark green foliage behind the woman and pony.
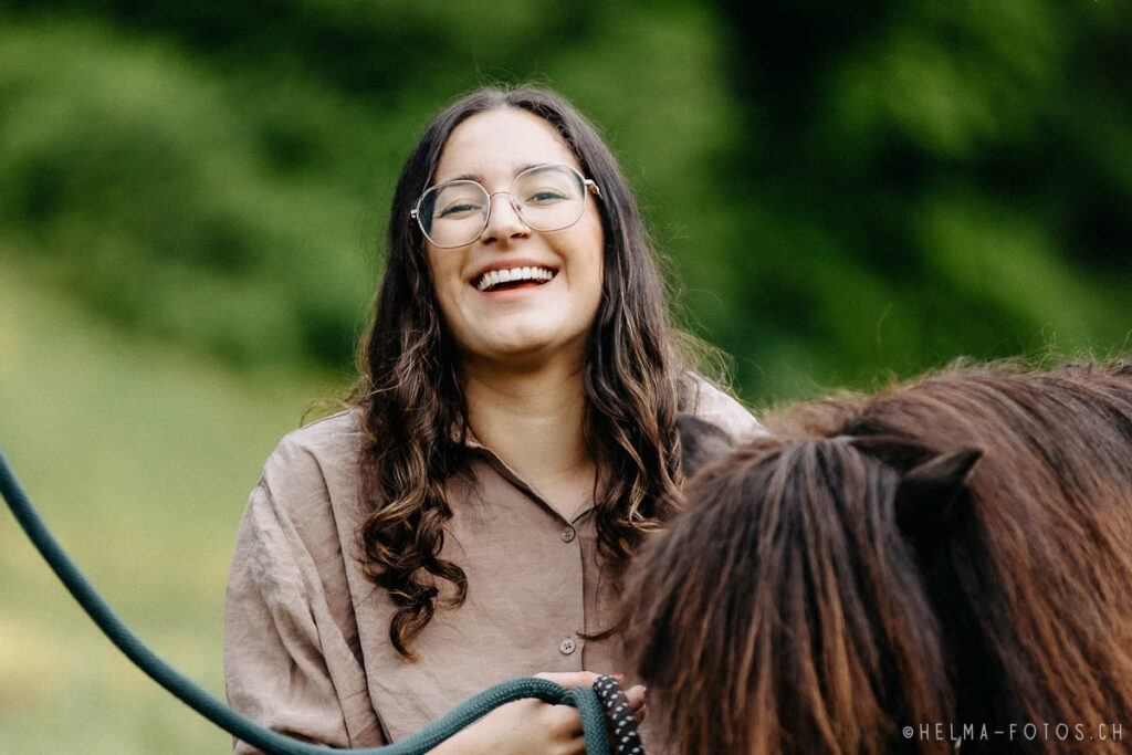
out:
{"label": "blurred dark green foliage behind the woman and pony", "polygon": [[[415,136],[599,123],[763,402],[1132,328],[1126,0],[7,2],[8,264],[237,363],[349,363]],[[376,264],[374,264],[376,263]]]}

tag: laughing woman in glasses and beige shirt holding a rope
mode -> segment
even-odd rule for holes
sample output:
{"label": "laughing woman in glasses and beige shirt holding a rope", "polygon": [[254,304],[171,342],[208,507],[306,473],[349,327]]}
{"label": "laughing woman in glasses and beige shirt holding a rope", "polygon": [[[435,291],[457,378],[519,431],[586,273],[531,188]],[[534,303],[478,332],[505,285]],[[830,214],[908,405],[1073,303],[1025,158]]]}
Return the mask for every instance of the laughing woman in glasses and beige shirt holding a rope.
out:
{"label": "laughing woman in glasses and beige shirt holding a rope", "polygon": [[[689,371],[614,157],[538,89],[472,94],[421,137],[360,362],[352,409],[268,460],[225,617],[232,704],[332,745],[504,679],[623,671],[619,640],[586,637],[679,506],[678,413],[761,431]],[[575,711],[521,701],[437,752],[581,749]]]}

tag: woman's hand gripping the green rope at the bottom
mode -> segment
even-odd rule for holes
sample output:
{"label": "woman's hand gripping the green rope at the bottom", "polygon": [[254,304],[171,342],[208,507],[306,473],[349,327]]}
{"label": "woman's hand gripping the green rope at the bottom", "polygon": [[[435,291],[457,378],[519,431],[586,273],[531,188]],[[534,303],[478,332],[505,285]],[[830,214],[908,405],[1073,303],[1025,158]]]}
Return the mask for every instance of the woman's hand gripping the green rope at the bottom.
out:
{"label": "woman's hand gripping the green rope at the bottom", "polygon": [[[590,671],[535,675],[567,689],[589,687],[598,678]],[[625,692],[640,720],[644,715],[644,687]],[[432,749],[434,755],[581,755],[585,753],[582,719],[569,705],[551,705],[541,700],[517,700],[500,705],[460,733]]]}

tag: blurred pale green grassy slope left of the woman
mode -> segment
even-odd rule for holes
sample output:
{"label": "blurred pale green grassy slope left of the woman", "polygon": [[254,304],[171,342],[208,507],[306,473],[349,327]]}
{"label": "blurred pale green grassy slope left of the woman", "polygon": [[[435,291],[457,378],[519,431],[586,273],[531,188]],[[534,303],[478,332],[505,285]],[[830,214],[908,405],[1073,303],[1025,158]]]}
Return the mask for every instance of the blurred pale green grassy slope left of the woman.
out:
{"label": "blurred pale green grassy slope left of the woman", "polygon": [[[234,371],[123,336],[45,291],[0,261],[0,448],[127,623],[223,695],[223,593],[243,503],[333,378]],[[0,606],[3,752],[230,752],[97,632],[7,509]]]}

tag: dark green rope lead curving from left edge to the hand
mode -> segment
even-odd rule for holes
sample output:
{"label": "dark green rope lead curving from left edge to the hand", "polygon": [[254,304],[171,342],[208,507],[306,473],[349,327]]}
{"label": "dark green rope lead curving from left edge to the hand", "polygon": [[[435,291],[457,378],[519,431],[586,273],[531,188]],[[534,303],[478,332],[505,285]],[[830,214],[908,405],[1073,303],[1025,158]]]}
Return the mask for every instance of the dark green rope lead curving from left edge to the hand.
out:
{"label": "dark green rope lead curving from left edge to the hand", "polygon": [[94,619],[103,634],[119,650],[134,661],[149,678],[173,693],[181,702],[206,719],[243,741],[258,747],[268,755],[420,755],[432,749],[470,723],[478,721],[499,705],[524,697],[537,697],[543,702],[573,705],[582,717],[585,733],[585,752],[589,755],[609,755],[609,739],[606,720],[597,694],[589,687],[566,689],[546,679],[512,679],[484,689],[464,701],[443,718],[428,724],[411,737],[385,747],[368,749],[335,749],[325,745],[314,745],[292,739],[277,731],[266,729],[240,715],[231,707],[208,694],[160,655],[149,650],[134,632],[114,614],[103,600],[67,551],[44,524],[40,513],[20,486],[16,473],[0,452],[0,494],[16,516],[24,532],[46,559],[48,565],[70,591],[83,610]]}

